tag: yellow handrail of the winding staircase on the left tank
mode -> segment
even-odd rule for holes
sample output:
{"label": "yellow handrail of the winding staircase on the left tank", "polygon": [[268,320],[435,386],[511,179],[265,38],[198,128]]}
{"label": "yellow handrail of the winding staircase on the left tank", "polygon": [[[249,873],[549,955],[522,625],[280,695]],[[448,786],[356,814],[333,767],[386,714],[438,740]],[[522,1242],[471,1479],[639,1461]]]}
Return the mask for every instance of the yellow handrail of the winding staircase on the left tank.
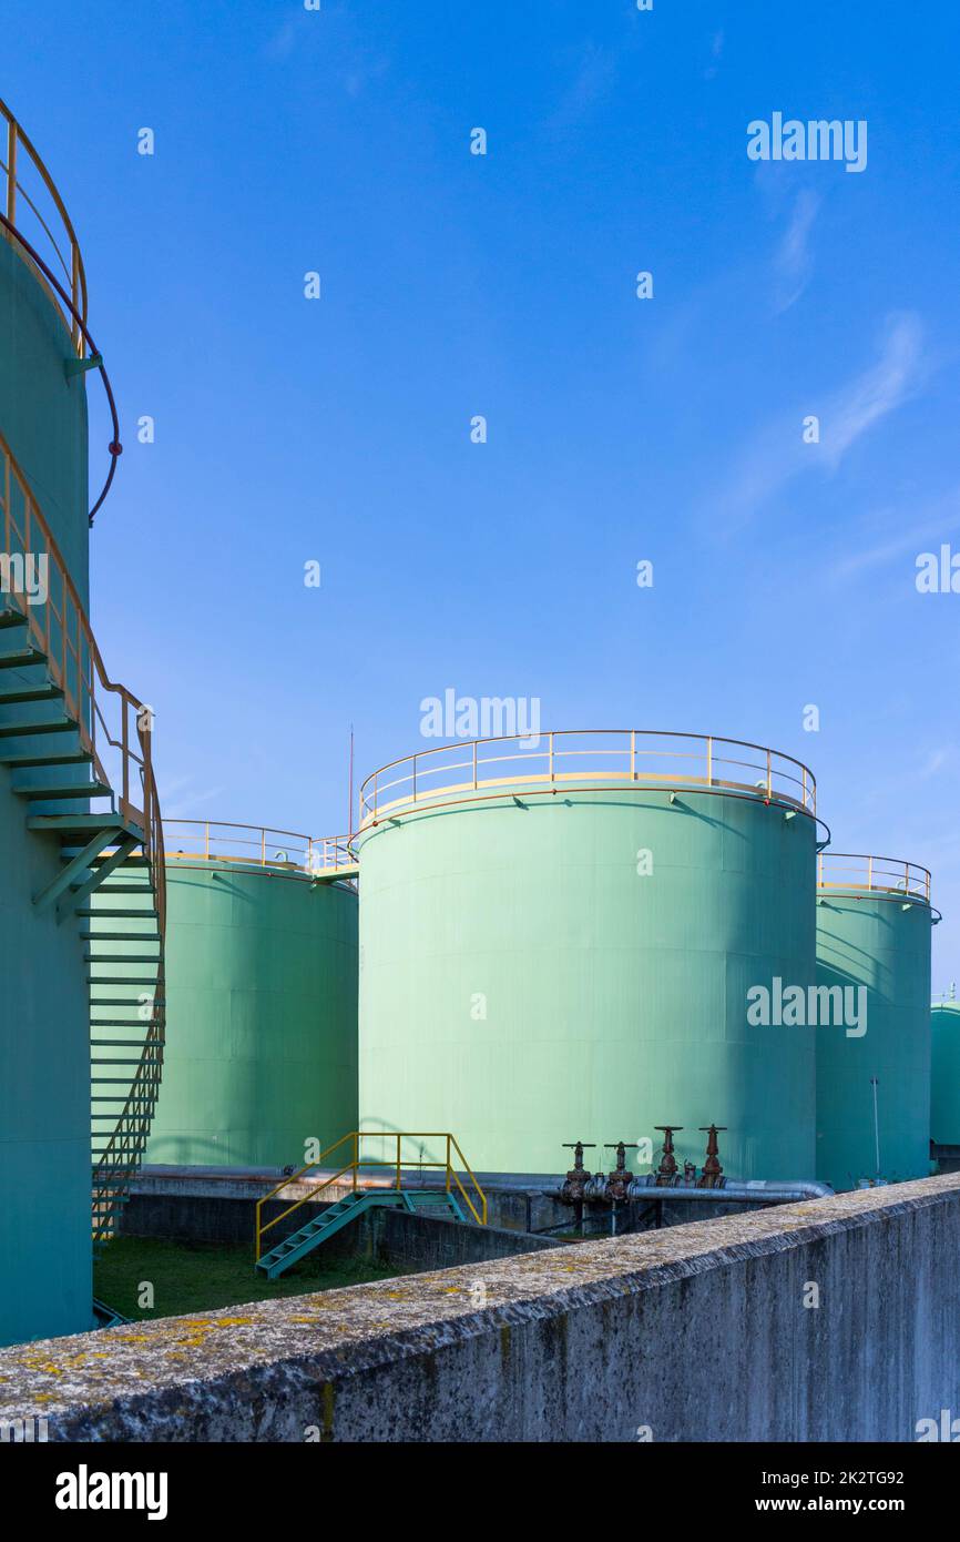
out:
{"label": "yellow handrail of the winding staircase on the left tank", "polygon": [[[108,677],[60,547],[2,433],[0,515],[2,555],[8,564],[2,575],[6,603],[26,623],[26,640],[45,657],[52,683],[63,692],[65,715],[77,723],[77,736],[83,751],[91,756],[96,780],[112,790],[123,822],[137,831],[156,896],[160,938],[157,984],[131,1090],[94,1169],[92,1229],[97,1241],[111,1227],[116,1178],[129,1177],[146,1143],[163,1064],[166,873],[160,800],[153,771],[153,712],[133,691]],[[26,581],[28,561],[34,564],[35,578],[40,558],[45,558],[43,598],[39,597],[39,589],[31,597]],[[18,571],[17,560],[22,564]],[[111,706],[114,714],[108,722]],[[108,763],[119,769],[111,774]]]}

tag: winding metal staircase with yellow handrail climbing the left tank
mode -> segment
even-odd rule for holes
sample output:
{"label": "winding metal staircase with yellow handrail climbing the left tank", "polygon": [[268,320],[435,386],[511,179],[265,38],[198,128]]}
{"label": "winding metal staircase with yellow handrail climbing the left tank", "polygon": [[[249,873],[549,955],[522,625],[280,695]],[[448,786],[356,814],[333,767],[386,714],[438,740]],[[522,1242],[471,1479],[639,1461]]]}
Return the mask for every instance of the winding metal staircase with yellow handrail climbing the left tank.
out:
{"label": "winding metal staircase with yellow handrail climbing the left tank", "polygon": [[163,1064],[166,907],[153,717],[108,678],[3,435],[0,535],[0,765],[12,773],[28,828],[60,842],[60,871],[34,905],[79,924],[86,944],[91,1223],[100,1243],[116,1232],[142,1161]]}

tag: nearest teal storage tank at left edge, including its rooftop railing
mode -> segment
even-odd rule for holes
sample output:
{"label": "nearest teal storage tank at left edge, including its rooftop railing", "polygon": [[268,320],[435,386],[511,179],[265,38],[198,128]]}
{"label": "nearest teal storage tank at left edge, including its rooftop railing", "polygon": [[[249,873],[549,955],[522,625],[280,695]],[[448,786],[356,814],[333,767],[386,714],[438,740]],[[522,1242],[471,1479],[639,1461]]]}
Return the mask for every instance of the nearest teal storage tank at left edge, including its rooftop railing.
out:
{"label": "nearest teal storage tank at left edge, including its rooftop railing", "polygon": [[[12,592],[31,594],[40,631],[57,638],[59,569],[35,520],[35,498],[80,601],[88,595],[88,475],[85,373],[69,316],[25,237],[65,287],[83,265],[72,227],[48,173],[0,102],[0,608]],[[105,455],[106,460],[106,455]],[[28,534],[29,530],[29,534]],[[43,574],[43,561],[48,571]],[[17,569],[17,564],[20,567]],[[32,571],[31,571],[32,569]],[[43,594],[46,591],[46,600]],[[76,626],[76,614],[71,612]],[[71,638],[74,632],[71,631]],[[0,631],[0,651],[23,651],[15,628]],[[29,700],[39,666],[0,671],[6,700],[0,726],[51,715]],[[20,695],[20,700],[17,700]],[[42,740],[17,740],[34,751]],[[45,740],[49,754],[49,737]],[[11,740],[5,739],[6,752]],[[62,780],[72,783],[74,768]],[[76,917],[59,925],[55,908],[34,896],[63,870],[55,834],[28,828],[37,811],[18,788],[34,769],[0,773],[0,1170],[8,1241],[0,1271],[0,1345],[82,1332],[92,1326],[89,1008],[83,942]],[[43,811],[52,813],[57,803]]]}

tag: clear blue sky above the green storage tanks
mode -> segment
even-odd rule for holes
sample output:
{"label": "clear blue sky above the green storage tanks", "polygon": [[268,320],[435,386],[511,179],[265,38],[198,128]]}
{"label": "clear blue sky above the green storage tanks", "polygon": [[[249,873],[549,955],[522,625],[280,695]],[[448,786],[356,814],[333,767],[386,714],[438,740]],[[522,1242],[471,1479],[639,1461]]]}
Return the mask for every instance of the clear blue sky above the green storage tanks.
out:
{"label": "clear blue sky above the green storage tanks", "polygon": [[[960,552],[958,43],[894,0],[8,23],[123,423],[94,625],[168,813],[341,831],[350,723],[364,776],[450,686],[744,737],[838,850],[932,868],[958,976],[960,595],[914,581]],[[775,111],[864,119],[866,170],[752,162]]]}

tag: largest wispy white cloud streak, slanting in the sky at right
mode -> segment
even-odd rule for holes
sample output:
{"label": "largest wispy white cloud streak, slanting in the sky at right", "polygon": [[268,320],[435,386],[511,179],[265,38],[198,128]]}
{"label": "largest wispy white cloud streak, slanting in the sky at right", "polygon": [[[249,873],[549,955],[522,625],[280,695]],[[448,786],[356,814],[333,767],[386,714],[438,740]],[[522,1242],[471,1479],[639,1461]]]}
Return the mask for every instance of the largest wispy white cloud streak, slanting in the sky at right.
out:
{"label": "largest wispy white cloud streak, slanting in the sky at right", "polygon": [[[920,387],[926,365],[923,327],[912,311],[888,316],[877,362],[838,390],[811,399],[774,419],[740,458],[712,517],[729,532],[747,523],[789,481],[814,469],[834,473],[848,450]],[[804,444],[801,426],[820,419],[820,443]]]}

